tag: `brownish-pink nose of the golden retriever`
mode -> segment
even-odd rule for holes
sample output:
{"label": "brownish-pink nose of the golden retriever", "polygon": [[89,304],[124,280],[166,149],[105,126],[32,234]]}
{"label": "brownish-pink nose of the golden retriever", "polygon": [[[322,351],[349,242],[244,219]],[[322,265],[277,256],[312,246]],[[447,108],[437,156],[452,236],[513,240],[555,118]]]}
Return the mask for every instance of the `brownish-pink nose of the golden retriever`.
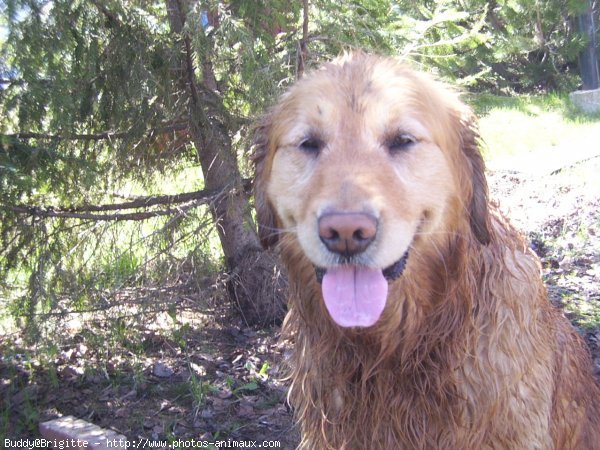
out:
{"label": "brownish-pink nose of the golden retriever", "polygon": [[364,252],[377,234],[377,219],[366,213],[334,212],[319,218],[319,237],[342,256]]}

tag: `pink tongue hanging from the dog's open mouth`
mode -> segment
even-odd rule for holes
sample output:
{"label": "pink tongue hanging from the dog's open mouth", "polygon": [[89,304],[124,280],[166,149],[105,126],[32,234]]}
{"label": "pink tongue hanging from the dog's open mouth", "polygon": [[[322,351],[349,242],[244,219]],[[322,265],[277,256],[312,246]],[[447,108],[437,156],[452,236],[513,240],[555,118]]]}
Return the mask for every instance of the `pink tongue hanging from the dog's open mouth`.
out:
{"label": "pink tongue hanging from the dog's open mouth", "polygon": [[379,319],[388,284],[380,269],[341,266],[328,269],[322,282],[325,306],[342,327],[370,327]]}

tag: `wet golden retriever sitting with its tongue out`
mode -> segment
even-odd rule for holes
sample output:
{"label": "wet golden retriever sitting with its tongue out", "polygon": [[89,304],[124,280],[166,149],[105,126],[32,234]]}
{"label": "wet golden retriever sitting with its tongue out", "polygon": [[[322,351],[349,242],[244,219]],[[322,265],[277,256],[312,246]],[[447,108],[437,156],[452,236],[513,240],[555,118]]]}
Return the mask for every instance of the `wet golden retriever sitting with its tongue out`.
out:
{"label": "wet golden retriever sitting with its tongue out", "polygon": [[490,206],[453,93],[353,53],[257,129],[261,238],[289,274],[300,448],[600,449],[590,357]]}

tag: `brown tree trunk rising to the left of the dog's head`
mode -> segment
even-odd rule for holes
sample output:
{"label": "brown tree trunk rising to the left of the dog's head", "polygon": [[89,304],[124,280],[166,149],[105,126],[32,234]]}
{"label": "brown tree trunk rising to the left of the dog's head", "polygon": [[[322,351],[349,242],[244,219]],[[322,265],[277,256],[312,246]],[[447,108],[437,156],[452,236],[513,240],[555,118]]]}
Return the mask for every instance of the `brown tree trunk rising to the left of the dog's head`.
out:
{"label": "brown tree trunk rising to the left of the dog's head", "polygon": [[189,96],[190,134],[204,175],[204,188],[223,194],[211,214],[225,255],[230,296],[248,324],[280,322],[285,312],[285,282],[271,252],[260,245],[233,149],[228,112],[217,88],[210,58],[200,55],[196,78],[191,40],[184,35],[185,0],[166,0],[171,31],[181,55],[179,84]]}

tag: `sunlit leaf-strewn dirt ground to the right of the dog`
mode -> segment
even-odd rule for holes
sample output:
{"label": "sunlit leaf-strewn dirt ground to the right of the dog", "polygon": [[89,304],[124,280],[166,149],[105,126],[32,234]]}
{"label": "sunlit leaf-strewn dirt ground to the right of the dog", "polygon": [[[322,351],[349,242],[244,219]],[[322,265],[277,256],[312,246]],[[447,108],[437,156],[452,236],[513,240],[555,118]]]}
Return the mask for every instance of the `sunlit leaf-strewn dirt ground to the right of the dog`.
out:
{"label": "sunlit leaf-strewn dirt ground to the right of the dog", "polygon": [[492,198],[540,257],[548,296],[590,346],[600,376],[600,149],[563,165],[492,170]]}

